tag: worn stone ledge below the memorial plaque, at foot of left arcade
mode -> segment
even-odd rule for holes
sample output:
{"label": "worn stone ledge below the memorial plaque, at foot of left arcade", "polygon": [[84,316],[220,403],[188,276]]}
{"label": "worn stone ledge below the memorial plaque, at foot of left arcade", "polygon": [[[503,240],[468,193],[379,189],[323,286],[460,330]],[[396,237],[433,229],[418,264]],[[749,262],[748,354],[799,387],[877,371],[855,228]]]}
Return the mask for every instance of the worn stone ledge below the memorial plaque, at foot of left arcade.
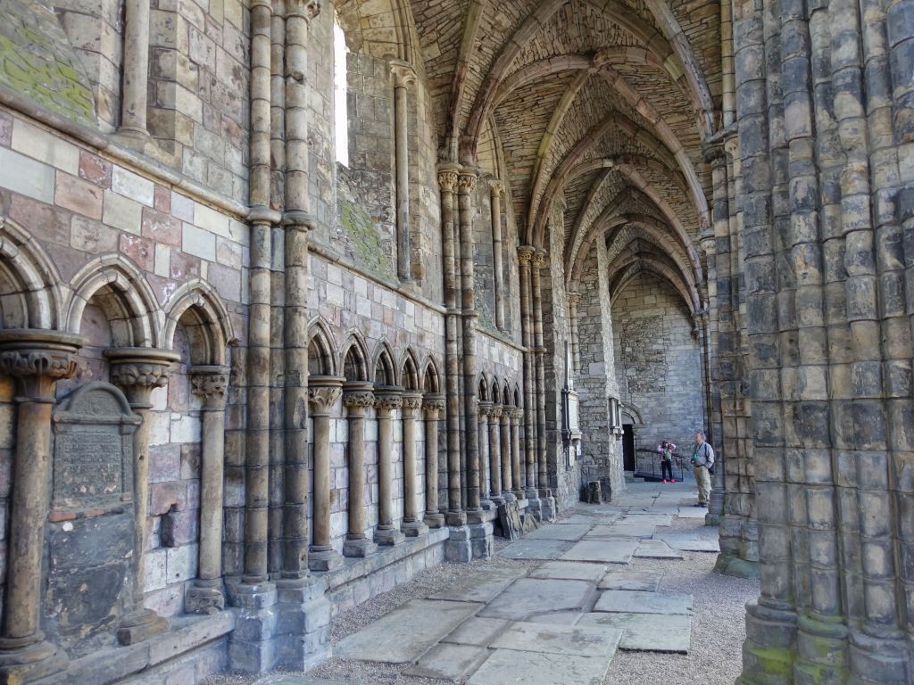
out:
{"label": "worn stone ledge below the memorial plaque, at foot of left arcade", "polygon": [[136,645],[112,647],[69,662],[67,669],[36,680],[34,685],[111,685],[145,669],[178,659],[224,638],[235,629],[235,614],[220,611],[209,616],[169,619],[168,630]]}

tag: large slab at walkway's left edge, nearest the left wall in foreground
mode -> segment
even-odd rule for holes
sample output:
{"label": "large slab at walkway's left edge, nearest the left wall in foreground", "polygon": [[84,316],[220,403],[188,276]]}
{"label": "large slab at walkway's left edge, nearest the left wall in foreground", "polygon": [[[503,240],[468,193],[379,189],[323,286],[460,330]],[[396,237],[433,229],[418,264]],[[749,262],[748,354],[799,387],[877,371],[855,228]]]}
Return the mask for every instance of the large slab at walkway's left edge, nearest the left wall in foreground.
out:
{"label": "large slab at walkway's left edge, nearest the left wall in foreground", "polygon": [[479,607],[470,602],[414,599],[341,640],[334,653],[358,661],[411,663]]}

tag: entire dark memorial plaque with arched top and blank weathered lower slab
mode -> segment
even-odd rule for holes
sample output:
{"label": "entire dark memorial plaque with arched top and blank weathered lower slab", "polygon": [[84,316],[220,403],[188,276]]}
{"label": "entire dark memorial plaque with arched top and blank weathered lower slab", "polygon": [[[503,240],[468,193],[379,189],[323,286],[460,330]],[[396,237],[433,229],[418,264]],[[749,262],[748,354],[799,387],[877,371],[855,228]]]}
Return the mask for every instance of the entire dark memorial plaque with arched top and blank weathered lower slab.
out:
{"label": "entire dark memorial plaque with arched top and blank weathered lower slab", "polygon": [[135,555],[133,434],[114,385],[81,385],[54,412],[53,500],[42,629],[71,659],[117,644]]}

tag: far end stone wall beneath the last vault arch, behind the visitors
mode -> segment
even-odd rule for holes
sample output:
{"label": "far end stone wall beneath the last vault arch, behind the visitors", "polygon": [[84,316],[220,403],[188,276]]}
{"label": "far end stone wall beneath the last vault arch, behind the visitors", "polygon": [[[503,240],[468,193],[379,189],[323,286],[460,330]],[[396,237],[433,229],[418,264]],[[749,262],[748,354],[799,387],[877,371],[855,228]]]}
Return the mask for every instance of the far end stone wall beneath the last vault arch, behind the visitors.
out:
{"label": "far end stone wall beneath the last vault arch, behind the visitors", "polygon": [[701,347],[682,297],[642,273],[612,302],[612,328],[622,403],[637,407],[644,423],[636,447],[653,449],[666,439],[688,451],[706,421]]}

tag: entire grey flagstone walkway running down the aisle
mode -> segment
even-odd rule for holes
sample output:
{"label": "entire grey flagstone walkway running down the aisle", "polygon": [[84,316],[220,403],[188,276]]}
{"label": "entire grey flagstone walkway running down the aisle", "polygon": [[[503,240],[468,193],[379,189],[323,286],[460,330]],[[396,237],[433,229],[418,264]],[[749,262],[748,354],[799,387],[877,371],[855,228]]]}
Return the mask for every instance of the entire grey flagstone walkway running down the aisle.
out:
{"label": "entire grey flagstone walkway running down the aisle", "polygon": [[[502,547],[499,559],[470,564],[455,582],[357,629],[335,644],[334,661],[344,668],[317,672],[345,673],[347,684],[601,685],[617,649],[650,651],[655,659],[656,652],[685,654],[693,597],[659,585],[683,552],[718,549],[717,530],[702,525],[706,510],[695,501],[688,486],[638,483],[618,503],[580,504],[562,521]],[[385,665],[399,667],[397,680],[374,680],[369,664],[378,678]],[[282,675],[260,682],[342,681]]]}

